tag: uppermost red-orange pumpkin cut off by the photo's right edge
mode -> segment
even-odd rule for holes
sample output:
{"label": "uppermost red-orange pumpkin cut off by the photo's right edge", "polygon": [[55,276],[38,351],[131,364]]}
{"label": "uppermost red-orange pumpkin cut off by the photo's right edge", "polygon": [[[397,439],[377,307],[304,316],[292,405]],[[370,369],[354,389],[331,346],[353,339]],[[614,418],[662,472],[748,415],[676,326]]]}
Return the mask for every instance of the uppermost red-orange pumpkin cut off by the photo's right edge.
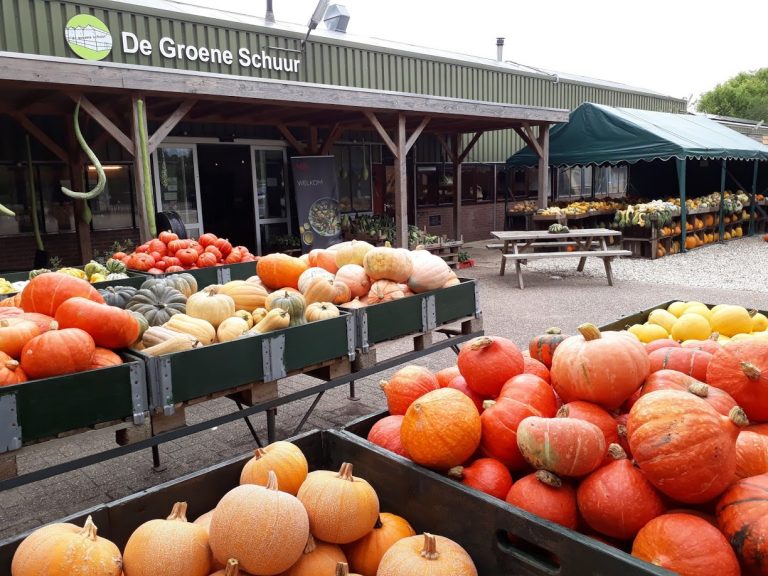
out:
{"label": "uppermost red-orange pumpkin cut off by the photo's right edge", "polygon": [[733,396],[750,420],[768,420],[768,342],[740,340],[723,346],[709,363],[707,384]]}

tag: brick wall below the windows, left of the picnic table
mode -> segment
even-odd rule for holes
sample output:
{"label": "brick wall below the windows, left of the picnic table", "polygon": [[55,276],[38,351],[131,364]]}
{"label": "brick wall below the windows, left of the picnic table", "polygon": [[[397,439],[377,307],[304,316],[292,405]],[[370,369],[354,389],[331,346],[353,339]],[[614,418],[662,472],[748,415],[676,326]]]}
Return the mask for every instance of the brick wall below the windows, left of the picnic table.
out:
{"label": "brick wall below the windows, left of the picnic table", "polygon": [[[496,224],[493,222],[494,210],[496,212]],[[430,226],[429,217],[440,216],[439,226]],[[453,207],[440,206],[434,208],[419,208],[416,217],[416,225],[422,230],[426,226],[427,232],[449,239],[453,238]],[[491,238],[492,230],[504,229],[504,203],[497,202],[494,207],[491,203],[465,204],[461,207],[461,230],[464,242],[475,240],[487,240]]]}

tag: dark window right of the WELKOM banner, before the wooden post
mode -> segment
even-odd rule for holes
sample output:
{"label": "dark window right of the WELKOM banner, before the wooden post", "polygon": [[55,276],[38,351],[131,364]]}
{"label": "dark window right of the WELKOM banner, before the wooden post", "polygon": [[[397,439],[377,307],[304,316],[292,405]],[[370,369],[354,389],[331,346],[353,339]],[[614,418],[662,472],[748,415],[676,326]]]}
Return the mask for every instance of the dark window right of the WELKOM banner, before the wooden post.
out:
{"label": "dark window right of the WELKOM banner, before the wooden post", "polygon": [[341,144],[334,146],[333,150],[338,170],[339,210],[371,212],[373,177],[370,146]]}

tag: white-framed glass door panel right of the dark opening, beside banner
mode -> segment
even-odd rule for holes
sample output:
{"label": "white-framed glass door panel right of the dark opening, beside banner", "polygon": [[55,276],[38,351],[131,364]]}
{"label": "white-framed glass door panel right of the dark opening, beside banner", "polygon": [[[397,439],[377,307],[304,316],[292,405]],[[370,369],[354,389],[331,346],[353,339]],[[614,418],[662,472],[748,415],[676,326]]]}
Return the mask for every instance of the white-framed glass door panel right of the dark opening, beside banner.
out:
{"label": "white-framed glass door panel right of the dark opening, beside banner", "polygon": [[252,150],[256,249],[259,254],[283,251],[291,234],[285,149],[253,146]]}

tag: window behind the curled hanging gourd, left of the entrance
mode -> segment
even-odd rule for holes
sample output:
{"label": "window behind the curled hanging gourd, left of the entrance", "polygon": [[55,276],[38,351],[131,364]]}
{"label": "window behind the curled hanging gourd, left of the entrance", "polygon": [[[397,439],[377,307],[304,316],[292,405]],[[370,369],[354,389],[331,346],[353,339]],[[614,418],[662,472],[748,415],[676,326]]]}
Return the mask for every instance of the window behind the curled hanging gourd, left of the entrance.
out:
{"label": "window behind the curled hanging gourd, left of the entrance", "polygon": [[[92,188],[98,181],[96,169],[88,166],[88,187]],[[133,176],[130,164],[108,164],[104,166],[107,184],[104,192],[88,205],[93,214],[94,230],[110,230],[117,228],[134,228],[133,207]]]}

